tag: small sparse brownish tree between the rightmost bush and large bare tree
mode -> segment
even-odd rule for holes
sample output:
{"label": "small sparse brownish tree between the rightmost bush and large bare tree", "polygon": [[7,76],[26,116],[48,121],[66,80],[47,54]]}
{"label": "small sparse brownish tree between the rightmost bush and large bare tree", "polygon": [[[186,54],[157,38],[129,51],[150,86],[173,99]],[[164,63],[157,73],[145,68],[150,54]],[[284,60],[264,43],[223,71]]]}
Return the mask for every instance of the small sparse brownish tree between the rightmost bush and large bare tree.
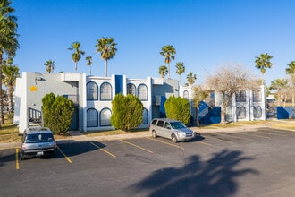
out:
{"label": "small sparse brownish tree between the rightmost bush and large bare tree", "polygon": [[205,100],[209,96],[208,90],[203,90],[201,86],[196,86],[193,88],[193,105],[196,107],[196,125],[199,126],[198,121],[198,111],[199,111],[199,104],[201,101]]}

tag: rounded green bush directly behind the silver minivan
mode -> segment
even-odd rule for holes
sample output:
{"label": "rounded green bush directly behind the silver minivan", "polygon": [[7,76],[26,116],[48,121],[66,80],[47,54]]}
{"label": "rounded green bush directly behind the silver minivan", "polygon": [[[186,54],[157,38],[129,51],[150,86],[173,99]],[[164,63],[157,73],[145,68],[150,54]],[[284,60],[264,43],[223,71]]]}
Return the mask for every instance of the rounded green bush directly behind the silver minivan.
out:
{"label": "rounded green bush directly behind the silver minivan", "polygon": [[183,124],[190,123],[190,102],[181,97],[171,96],[164,102],[164,110],[168,118],[179,120]]}

